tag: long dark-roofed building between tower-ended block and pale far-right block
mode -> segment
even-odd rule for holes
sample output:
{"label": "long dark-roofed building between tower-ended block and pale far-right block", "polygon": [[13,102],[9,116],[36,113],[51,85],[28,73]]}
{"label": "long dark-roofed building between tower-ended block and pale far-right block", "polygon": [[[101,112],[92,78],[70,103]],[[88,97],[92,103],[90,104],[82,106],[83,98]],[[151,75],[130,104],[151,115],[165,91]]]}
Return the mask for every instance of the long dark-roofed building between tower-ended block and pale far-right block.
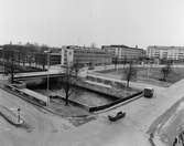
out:
{"label": "long dark-roofed building between tower-ended block and pale far-right block", "polygon": [[127,45],[102,45],[102,50],[110,52],[118,62],[134,61],[145,56],[145,51],[143,49],[130,48]]}

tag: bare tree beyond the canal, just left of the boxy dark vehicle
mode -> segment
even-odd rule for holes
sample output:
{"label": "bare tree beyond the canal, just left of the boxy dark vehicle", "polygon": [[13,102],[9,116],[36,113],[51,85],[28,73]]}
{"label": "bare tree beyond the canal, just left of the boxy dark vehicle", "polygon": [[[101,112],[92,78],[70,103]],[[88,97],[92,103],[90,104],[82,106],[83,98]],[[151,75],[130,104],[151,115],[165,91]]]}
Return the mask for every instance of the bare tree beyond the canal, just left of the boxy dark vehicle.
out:
{"label": "bare tree beyond the canal, just left of the boxy dark vehicle", "polygon": [[127,81],[127,87],[129,87],[129,82],[132,79],[137,77],[137,70],[133,66],[132,62],[129,63],[129,66],[125,67],[123,75],[125,75],[125,80]]}

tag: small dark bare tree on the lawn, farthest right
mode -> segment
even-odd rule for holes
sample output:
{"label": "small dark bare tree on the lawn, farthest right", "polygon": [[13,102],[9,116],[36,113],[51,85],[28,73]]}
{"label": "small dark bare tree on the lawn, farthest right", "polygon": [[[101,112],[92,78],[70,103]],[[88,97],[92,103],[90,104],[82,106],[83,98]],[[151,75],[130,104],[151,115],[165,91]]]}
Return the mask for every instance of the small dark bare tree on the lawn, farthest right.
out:
{"label": "small dark bare tree on the lawn, farthest right", "polygon": [[167,79],[167,76],[169,76],[169,74],[172,72],[172,66],[171,66],[171,62],[166,62],[166,65],[165,66],[163,66],[162,69],[161,69],[161,74],[162,74],[162,81],[166,81],[166,79]]}

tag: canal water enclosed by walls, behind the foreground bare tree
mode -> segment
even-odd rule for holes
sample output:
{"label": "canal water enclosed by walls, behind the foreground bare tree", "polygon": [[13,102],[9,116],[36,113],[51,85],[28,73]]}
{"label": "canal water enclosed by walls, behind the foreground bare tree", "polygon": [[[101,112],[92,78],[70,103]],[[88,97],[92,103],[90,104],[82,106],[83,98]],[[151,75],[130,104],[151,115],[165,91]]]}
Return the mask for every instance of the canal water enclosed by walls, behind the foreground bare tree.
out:
{"label": "canal water enclosed by walls, behind the foreground bare tree", "polygon": [[[62,85],[59,81],[53,80],[50,83],[50,90],[46,90],[46,82],[41,82],[40,84],[30,84],[26,82],[26,86],[30,90],[33,90],[37,93],[44,94],[46,96],[62,96],[65,97],[65,92],[62,90]],[[100,106],[106,105],[108,103],[112,103],[116,98],[110,96],[105,96],[82,87],[72,87],[72,95],[69,96],[69,100],[79,102],[82,104],[88,105],[88,106]]]}

